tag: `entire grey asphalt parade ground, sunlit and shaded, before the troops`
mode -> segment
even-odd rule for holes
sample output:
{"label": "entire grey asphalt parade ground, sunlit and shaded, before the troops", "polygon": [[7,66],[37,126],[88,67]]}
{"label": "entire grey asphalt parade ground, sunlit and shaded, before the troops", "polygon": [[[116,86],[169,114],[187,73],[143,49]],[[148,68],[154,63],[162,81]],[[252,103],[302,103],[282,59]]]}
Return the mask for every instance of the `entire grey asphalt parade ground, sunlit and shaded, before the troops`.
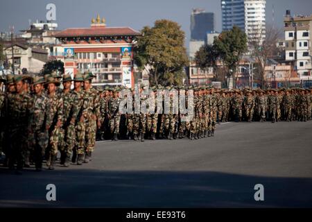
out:
{"label": "entire grey asphalt parade ground, sunlit and shaded, before the troops", "polygon": [[193,141],[103,141],[92,157],[22,175],[0,167],[0,207],[312,207],[312,121],[223,123]]}

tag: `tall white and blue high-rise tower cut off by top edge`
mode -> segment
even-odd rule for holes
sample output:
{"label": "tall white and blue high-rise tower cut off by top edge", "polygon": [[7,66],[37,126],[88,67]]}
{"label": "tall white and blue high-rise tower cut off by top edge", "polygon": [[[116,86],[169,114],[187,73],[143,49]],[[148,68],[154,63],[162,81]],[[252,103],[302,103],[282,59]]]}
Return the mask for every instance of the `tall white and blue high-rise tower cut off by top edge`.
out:
{"label": "tall white and blue high-rise tower cut off by top edge", "polygon": [[248,40],[266,37],[266,0],[221,0],[222,29],[238,26]]}

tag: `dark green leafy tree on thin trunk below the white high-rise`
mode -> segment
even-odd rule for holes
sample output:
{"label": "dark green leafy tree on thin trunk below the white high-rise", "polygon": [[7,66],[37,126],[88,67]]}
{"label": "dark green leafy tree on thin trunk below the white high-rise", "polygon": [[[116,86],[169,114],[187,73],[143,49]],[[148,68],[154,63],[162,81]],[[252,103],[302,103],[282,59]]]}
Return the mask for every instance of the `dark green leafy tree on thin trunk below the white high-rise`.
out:
{"label": "dark green leafy tree on thin trunk below the white high-rise", "polygon": [[221,60],[227,66],[229,73],[227,77],[233,77],[233,87],[236,87],[237,76],[236,68],[239,65],[239,59],[247,51],[247,37],[237,26],[229,31],[223,31],[214,39],[214,45],[218,51]]}

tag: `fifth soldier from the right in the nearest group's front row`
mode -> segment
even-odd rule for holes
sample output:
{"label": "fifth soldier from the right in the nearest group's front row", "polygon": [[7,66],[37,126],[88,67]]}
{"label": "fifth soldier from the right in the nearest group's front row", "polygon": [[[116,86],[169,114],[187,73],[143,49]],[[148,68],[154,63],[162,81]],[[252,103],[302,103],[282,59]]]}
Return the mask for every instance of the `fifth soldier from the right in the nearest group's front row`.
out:
{"label": "fifth soldier from the right in the nearest group's front row", "polygon": [[34,152],[36,171],[42,170],[42,157],[49,142],[48,128],[51,126],[49,99],[43,94],[45,80],[36,76],[33,80],[33,107],[29,117],[28,146]]}

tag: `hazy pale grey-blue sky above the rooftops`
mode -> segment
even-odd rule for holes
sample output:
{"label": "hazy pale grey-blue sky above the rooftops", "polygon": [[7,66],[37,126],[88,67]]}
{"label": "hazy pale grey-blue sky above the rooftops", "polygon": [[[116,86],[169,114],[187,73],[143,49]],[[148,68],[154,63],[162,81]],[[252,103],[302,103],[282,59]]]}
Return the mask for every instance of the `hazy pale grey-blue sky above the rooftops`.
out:
{"label": "hazy pale grey-blue sky above the rooftops", "polygon": [[[214,12],[216,31],[221,31],[220,0],[1,0],[0,31],[28,28],[28,20],[46,20],[46,4],[55,3],[58,29],[89,27],[92,17],[99,13],[107,26],[130,26],[140,31],[143,26],[153,26],[156,19],[178,22],[190,37],[192,8]],[[272,5],[275,8],[275,26],[283,26],[286,9],[291,14],[312,14],[312,0],[267,0],[266,22],[272,23]]]}

